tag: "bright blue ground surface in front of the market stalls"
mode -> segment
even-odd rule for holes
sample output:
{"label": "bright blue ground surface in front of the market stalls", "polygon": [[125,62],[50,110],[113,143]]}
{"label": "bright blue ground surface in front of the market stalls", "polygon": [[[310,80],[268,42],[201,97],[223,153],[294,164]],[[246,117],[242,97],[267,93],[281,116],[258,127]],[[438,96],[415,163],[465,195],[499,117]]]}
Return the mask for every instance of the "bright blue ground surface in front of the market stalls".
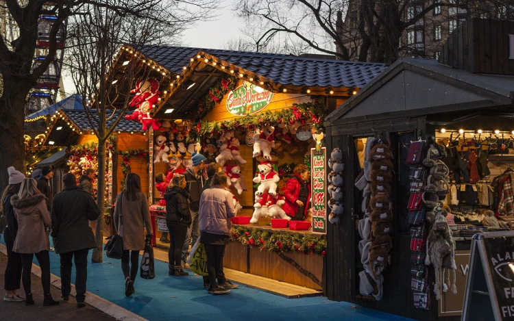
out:
{"label": "bright blue ground surface in front of the market stalls", "polygon": [[[1,241],[3,244],[3,238]],[[50,253],[51,273],[60,276],[59,255]],[[90,255],[88,257],[90,261]],[[37,260],[34,259],[37,264]],[[321,296],[288,299],[240,285],[223,296],[208,294],[201,277],[169,277],[168,264],[156,261],[156,278],[136,279],[136,293],[125,296],[120,261],[103,255],[88,264],[87,290],[148,320],[411,320]],[[75,273],[72,276],[72,282]]]}

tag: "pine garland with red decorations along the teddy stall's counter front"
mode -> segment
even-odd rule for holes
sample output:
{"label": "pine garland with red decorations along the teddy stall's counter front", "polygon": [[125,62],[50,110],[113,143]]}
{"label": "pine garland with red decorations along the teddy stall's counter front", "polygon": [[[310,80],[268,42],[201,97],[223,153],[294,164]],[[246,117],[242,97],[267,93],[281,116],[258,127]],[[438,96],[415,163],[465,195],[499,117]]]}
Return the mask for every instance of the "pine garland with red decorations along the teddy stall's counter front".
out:
{"label": "pine garland with red decorations along the teddy stall's counter front", "polygon": [[256,228],[232,227],[230,240],[276,253],[327,254],[327,241],[311,234],[270,233]]}

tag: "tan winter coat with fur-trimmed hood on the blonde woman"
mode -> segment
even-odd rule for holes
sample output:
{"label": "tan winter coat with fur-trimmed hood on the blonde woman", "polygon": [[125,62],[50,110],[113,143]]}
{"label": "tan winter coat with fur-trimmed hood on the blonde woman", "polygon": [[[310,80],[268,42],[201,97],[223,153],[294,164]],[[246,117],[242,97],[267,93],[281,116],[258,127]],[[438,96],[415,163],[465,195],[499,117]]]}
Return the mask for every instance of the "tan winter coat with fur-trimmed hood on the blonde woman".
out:
{"label": "tan winter coat with fur-trimmed hood on the blonde woman", "polygon": [[50,241],[45,228],[50,227],[50,214],[45,195],[37,194],[20,199],[11,197],[14,214],[18,220],[18,234],[12,251],[16,253],[39,253],[50,251]]}

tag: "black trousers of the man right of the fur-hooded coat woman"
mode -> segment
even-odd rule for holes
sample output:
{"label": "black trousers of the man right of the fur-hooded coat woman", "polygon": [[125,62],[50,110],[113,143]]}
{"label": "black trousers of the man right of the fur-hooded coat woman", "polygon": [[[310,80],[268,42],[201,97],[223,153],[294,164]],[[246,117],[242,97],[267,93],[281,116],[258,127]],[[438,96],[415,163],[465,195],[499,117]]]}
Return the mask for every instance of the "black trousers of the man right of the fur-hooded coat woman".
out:
{"label": "black trousers of the man right of the fur-hooded coat woman", "polygon": [[88,253],[89,249],[73,251],[60,254],[61,257],[61,292],[62,296],[69,296],[71,292],[71,259],[75,258],[75,290],[77,302],[84,302],[86,299],[86,281],[88,279]]}

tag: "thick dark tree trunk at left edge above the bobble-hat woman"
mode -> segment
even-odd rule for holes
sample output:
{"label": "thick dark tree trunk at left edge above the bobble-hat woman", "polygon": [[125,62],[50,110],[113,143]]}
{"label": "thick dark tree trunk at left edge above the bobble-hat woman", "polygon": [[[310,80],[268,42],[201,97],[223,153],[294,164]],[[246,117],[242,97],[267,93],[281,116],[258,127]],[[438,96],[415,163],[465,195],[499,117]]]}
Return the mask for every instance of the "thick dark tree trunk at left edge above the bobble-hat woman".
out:
{"label": "thick dark tree trunk at left edge above the bobble-hat woman", "polygon": [[8,185],[9,166],[25,173],[25,97],[26,94],[18,94],[16,97],[6,98],[4,95],[0,98],[0,192]]}

